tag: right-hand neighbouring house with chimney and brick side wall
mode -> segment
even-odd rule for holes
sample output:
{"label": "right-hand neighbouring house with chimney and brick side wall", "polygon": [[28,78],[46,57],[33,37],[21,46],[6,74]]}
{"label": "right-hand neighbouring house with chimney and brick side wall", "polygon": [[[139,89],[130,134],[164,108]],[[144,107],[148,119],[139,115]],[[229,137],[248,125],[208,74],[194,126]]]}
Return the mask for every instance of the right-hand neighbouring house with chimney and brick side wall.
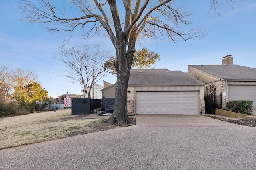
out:
{"label": "right-hand neighbouring house with chimney and brick side wall", "polygon": [[230,100],[252,100],[256,108],[256,69],[233,65],[232,55],[222,65],[189,65],[188,74],[206,84],[204,93],[221,93],[222,108]]}

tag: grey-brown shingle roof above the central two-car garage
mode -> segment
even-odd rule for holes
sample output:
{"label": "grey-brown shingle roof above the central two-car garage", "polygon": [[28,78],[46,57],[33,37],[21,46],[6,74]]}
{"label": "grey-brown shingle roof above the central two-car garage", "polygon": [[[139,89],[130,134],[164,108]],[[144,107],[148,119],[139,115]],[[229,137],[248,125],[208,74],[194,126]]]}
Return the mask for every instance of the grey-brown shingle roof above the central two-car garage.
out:
{"label": "grey-brown shingle roof above the central two-car garage", "polygon": [[168,69],[132,69],[129,85],[204,85],[204,83],[188,76],[182,71],[169,71]]}

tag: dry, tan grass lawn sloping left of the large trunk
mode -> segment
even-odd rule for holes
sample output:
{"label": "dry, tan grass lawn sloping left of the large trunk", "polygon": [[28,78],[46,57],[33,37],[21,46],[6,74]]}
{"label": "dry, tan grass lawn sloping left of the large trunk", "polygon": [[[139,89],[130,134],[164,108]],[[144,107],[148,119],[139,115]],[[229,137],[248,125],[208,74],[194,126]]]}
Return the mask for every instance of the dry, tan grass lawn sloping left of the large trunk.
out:
{"label": "dry, tan grass lawn sloping left of the large trunk", "polygon": [[117,128],[102,118],[71,115],[70,109],[49,112],[0,119],[0,149]]}

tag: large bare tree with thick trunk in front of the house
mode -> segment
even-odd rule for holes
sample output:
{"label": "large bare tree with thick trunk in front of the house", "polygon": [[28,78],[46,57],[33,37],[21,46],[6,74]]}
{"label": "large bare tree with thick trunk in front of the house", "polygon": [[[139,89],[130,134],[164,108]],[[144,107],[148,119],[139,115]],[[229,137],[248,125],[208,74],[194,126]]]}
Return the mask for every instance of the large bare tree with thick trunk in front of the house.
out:
{"label": "large bare tree with thick trunk in front of the house", "polygon": [[[232,2],[233,0],[220,0]],[[222,5],[211,0],[211,8]],[[51,31],[68,32],[78,29],[84,38],[96,33],[110,37],[116,49],[116,102],[109,124],[128,125],[127,87],[137,39],[198,39],[204,36],[200,26],[189,27],[190,13],[175,4],[175,0],[71,0],[63,10],[60,2],[24,0],[20,10],[30,23],[44,23]],[[57,6],[58,5],[58,6]],[[77,9],[77,11],[75,11]],[[119,14],[124,12],[124,16]],[[52,24],[50,24],[52,23]],[[81,30],[82,29],[82,30]]]}

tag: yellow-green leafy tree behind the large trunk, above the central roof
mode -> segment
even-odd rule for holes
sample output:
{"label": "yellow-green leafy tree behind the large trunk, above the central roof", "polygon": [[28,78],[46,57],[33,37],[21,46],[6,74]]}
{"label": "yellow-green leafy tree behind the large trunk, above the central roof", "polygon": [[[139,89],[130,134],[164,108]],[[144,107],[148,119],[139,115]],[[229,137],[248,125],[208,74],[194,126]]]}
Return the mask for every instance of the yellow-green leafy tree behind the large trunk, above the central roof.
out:
{"label": "yellow-green leafy tree behind the large trunk, above the central roof", "polygon": [[[114,66],[115,61],[115,56],[110,57],[110,59],[104,64],[104,71],[110,70],[110,74],[116,75],[116,67]],[[134,68],[134,66],[138,69],[155,68],[156,61],[160,61],[158,53],[148,51],[147,48],[142,48],[134,53],[131,68]]]}

